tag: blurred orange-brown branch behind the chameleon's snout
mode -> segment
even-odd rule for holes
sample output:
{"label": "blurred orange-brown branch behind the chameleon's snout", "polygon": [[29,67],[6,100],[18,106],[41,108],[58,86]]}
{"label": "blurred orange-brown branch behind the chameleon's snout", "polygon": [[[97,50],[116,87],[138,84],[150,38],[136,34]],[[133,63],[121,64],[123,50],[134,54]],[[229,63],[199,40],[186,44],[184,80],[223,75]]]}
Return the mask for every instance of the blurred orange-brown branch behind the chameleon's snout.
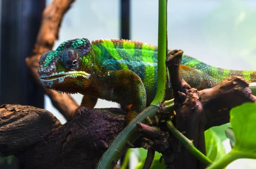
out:
{"label": "blurred orange-brown branch behind the chameleon's snout", "polygon": [[[41,82],[39,74],[37,73],[39,59],[42,54],[52,49],[55,40],[58,39],[61,20],[74,1],[75,0],[53,0],[52,3],[44,9],[37,41],[31,56],[26,58],[26,65],[29,72],[32,73],[40,86]],[[46,88],[44,88],[44,92],[50,97],[53,106],[55,106],[66,119],[73,117],[73,112],[75,112],[78,105],[70,95],[61,95],[58,92]]]}

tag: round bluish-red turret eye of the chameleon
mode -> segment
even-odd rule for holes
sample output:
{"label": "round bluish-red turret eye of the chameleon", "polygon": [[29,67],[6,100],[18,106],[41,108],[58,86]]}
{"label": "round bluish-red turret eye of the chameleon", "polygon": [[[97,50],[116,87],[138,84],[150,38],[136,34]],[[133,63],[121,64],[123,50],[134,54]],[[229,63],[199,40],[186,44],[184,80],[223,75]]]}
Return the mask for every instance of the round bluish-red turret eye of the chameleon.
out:
{"label": "round bluish-red turret eye of the chameleon", "polygon": [[73,49],[67,49],[61,54],[62,62],[71,70],[78,68],[79,54]]}

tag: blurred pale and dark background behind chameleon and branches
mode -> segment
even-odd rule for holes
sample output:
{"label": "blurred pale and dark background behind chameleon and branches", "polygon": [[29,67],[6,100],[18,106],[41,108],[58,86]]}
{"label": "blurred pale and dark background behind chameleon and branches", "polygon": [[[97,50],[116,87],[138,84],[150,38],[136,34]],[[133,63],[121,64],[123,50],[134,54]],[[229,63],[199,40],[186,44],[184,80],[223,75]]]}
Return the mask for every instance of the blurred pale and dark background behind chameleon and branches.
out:
{"label": "blurred pale and dark background behind chameleon and branches", "polygon": [[[41,23],[52,0],[0,0],[0,105],[23,104],[65,118],[26,71]],[[256,0],[168,1],[168,48],[226,69],[256,70]],[[64,15],[59,39],[124,38],[157,45],[158,0],[76,0]],[[80,104],[82,95],[72,95]],[[119,107],[98,100],[96,108]],[[219,132],[224,132],[219,131]],[[226,152],[229,140],[222,142]],[[133,152],[130,168],[137,166]],[[1,158],[0,169],[23,169],[15,158]],[[256,160],[236,160],[227,169],[254,169]],[[25,168],[24,168],[25,169]]]}

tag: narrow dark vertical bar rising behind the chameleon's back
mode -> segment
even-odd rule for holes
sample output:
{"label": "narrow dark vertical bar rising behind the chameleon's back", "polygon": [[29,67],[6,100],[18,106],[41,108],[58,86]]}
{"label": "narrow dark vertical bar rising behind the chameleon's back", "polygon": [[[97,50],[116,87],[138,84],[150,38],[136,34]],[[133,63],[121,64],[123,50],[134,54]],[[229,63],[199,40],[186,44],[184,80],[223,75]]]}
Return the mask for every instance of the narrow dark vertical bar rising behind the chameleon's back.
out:
{"label": "narrow dark vertical bar rising behind the chameleon's back", "polygon": [[130,39],[130,0],[121,0],[121,39]]}

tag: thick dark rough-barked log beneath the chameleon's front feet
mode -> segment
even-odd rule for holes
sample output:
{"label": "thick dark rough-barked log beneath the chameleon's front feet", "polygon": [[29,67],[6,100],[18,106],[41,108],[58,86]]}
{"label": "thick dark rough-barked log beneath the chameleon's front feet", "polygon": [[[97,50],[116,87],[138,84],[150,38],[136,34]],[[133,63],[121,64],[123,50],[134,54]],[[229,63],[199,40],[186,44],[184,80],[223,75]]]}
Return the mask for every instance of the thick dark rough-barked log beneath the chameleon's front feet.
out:
{"label": "thick dark rough-barked log beneath the chameleon's front feet", "polygon": [[32,106],[0,106],[0,152],[36,169],[94,169],[125,127],[121,109],[91,109],[61,123]]}

